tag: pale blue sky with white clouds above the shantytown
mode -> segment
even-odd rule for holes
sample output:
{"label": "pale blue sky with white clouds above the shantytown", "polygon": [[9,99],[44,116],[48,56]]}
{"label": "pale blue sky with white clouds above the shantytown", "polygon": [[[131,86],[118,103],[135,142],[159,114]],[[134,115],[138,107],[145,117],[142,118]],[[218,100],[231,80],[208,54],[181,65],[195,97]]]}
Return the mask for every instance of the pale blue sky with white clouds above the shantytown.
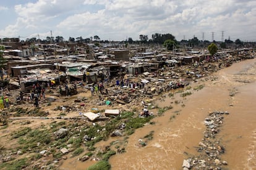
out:
{"label": "pale blue sky with white clouds above the shantytown", "polygon": [[0,15],[0,38],[256,41],[255,0],[2,0]]}

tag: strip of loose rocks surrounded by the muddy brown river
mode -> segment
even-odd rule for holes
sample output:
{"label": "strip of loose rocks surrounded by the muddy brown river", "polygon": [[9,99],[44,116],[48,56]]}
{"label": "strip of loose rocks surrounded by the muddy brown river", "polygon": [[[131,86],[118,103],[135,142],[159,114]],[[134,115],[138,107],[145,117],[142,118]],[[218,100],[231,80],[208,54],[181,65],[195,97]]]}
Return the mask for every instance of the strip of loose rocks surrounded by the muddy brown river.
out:
{"label": "strip of loose rocks surrounded by the muddy brown river", "polygon": [[227,165],[226,161],[221,160],[221,154],[225,152],[218,133],[223,124],[224,115],[229,115],[228,111],[209,112],[204,123],[206,130],[202,141],[198,143],[197,156],[193,156],[183,161],[184,169],[221,169],[221,166]]}

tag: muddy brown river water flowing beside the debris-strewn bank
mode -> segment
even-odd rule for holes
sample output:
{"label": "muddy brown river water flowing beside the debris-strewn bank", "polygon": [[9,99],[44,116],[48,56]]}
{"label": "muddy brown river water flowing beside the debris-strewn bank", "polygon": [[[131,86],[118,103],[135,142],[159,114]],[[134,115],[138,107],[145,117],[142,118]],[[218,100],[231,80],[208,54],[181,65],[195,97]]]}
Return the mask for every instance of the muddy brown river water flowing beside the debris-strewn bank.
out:
{"label": "muddy brown river water flowing beside the debris-strewn bank", "polygon": [[[111,169],[182,169],[186,153],[198,155],[195,147],[203,138],[203,121],[209,111],[230,113],[224,117],[217,136],[226,149],[221,156],[228,162],[226,169],[256,169],[256,59],[234,63],[214,75],[218,79],[192,84],[205,87],[190,89],[193,94],[186,99],[176,94],[158,100],[159,107],[171,105],[173,109],[154,118],[155,124],[147,124],[129,136],[126,153],[109,159]],[[138,147],[138,140],[150,131],[154,131],[153,139],[145,147]],[[109,145],[112,140],[116,139],[99,145]],[[74,158],[64,161],[60,169],[86,169],[93,163]]]}

